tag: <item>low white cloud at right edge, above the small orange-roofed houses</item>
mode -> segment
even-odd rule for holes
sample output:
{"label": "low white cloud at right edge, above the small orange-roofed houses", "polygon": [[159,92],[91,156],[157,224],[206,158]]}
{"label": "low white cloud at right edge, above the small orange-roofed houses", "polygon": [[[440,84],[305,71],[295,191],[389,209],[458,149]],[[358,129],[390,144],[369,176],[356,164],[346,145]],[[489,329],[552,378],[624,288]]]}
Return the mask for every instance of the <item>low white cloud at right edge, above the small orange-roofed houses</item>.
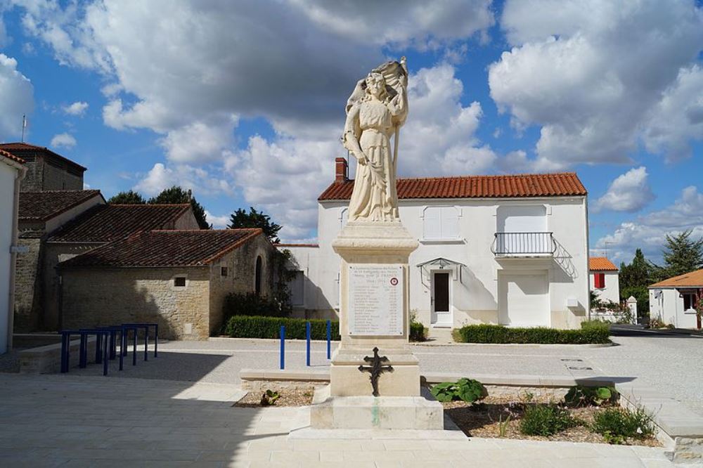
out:
{"label": "low white cloud at right edge, above the small orange-roofed houses", "polygon": [[598,249],[609,249],[613,258],[630,261],[635,249],[641,248],[647,257],[659,261],[666,234],[691,229],[693,238],[703,237],[703,193],[695,186],[681,191],[673,204],[621,223],[612,233],[595,242]]}

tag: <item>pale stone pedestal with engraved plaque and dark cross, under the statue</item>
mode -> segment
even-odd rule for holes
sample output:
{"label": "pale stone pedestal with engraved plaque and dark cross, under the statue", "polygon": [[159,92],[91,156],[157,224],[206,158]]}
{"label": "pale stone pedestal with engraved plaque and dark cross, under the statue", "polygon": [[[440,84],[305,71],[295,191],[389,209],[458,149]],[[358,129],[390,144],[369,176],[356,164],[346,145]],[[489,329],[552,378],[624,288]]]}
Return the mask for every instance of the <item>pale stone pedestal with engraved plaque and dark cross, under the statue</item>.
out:
{"label": "pale stone pedestal with engraved plaque and dark cross, under the statue", "polygon": [[[418,241],[399,222],[350,221],[332,243],[342,257],[340,335],[330,386],[316,391],[316,429],[443,429],[441,404],[420,396],[418,358],[408,349],[408,257]],[[392,366],[373,396],[373,348]]]}

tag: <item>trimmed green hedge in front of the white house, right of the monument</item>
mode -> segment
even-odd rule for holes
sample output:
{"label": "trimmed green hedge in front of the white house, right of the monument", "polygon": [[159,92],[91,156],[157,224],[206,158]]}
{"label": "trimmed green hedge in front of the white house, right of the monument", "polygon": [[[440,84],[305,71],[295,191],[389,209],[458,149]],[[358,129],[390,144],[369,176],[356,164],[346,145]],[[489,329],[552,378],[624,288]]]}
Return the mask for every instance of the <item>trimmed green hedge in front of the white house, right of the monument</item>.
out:
{"label": "trimmed green hedge in front of the white house, right of the monument", "polygon": [[502,325],[465,325],[455,334],[462,343],[496,344],[601,344],[610,343],[610,327],[589,324],[581,330],[531,327],[508,328]]}

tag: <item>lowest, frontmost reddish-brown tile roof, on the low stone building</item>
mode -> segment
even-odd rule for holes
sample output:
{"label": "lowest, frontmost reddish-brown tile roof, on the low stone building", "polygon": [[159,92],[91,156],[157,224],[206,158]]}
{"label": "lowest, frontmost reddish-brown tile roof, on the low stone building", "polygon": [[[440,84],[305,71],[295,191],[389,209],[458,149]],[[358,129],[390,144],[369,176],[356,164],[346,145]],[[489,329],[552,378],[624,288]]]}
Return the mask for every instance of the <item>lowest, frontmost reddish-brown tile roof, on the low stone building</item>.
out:
{"label": "lowest, frontmost reddish-brown tile roof, on the low stone building", "polygon": [[68,259],[60,268],[205,266],[244,245],[261,229],[152,230]]}

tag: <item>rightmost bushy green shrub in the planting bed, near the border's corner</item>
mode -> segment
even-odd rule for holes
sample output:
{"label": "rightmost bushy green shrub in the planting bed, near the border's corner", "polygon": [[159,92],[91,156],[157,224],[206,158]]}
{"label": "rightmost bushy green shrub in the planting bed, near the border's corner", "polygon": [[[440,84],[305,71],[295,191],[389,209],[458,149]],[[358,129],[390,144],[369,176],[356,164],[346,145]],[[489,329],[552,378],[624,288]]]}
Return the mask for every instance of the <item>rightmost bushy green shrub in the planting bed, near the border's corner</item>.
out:
{"label": "rightmost bushy green shrub in the planting bed, near the border's corner", "polygon": [[642,408],[605,408],[593,416],[594,432],[607,443],[625,443],[627,438],[646,438],[654,434],[652,418]]}

